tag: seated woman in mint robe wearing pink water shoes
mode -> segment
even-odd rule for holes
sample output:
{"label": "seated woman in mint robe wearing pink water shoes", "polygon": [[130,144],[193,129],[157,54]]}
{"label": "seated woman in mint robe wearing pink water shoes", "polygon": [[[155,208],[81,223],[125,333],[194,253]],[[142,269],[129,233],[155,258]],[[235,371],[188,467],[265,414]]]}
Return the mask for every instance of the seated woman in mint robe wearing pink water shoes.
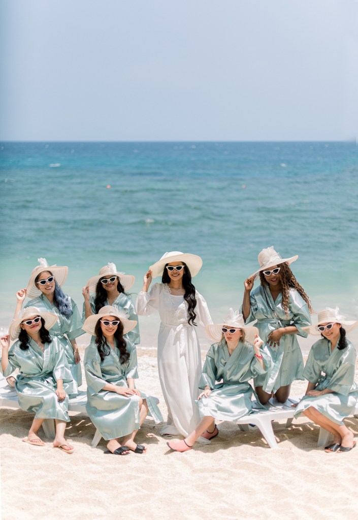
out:
{"label": "seated woman in mint robe wearing pink water shoes", "polygon": [[[190,450],[200,436],[216,437],[219,431],[215,419],[234,422],[250,413],[254,391],[248,381],[270,367],[270,357],[260,349],[263,341],[257,328],[245,327],[238,311],[230,309],[222,324],[206,328],[218,343],[211,345],[206,355],[199,384],[204,389],[197,398],[202,420],[184,440],[167,443],[175,451]],[[222,383],[215,384],[221,379]]]}

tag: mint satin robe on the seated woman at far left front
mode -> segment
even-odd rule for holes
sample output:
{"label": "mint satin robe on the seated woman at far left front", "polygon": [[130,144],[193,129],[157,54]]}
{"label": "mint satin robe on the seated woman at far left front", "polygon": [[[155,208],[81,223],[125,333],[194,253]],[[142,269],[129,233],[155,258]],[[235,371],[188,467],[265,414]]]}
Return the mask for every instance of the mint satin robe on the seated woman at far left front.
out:
{"label": "mint satin robe on the seated woman at far left front", "polygon": [[4,376],[16,368],[15,389],[19,405],[27,412],[35,413],[35,419],[60,419],[69,422],[69,398],[58,401],[57,380],[62,379],[63,389],[73,394],[73,380],[63,348],[56,337],[45,343],[44,352],[34,340],[29,340],[29,348],[22,350],[17,341],[9,349],[9,364]]}

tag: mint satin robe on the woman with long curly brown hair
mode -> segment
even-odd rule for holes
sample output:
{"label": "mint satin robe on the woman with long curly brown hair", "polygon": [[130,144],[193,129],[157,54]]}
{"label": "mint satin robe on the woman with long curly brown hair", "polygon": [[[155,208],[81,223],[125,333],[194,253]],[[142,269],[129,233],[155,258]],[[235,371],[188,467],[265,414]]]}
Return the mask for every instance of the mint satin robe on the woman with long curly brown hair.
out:
{"label": "mint satin robe on the woman with long curly brown hair", "polygon": [[[282,308],[282,293],[273,301],[270,289],[259,285],[250,295],[251,311],[246,323],[257,320],[255,327],[264,341],[264,350],[271,357],[271,368],[267,374],[255,378],[255,387],[262,386],[265,392],[276,392],[281,386],[291,384],[296,379],[303,380],[303,357],[297,335],[307,337],[302,330],[311,324],[308,305],[296,289],[289,289],[288,315]],[[280,346],[267,345],[270,332],[281,327],[294,325],[297,334],[283,335]]]}

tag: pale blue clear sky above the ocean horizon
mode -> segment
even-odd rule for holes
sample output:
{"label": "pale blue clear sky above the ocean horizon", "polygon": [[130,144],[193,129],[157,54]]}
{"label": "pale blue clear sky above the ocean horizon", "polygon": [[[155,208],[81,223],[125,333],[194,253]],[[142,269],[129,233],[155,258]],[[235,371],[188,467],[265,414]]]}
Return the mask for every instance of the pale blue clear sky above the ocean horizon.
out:
{"label": "pale blue clear sky above the ocean horizon", "polygon": [[3,0],[2,140],[356,139],[355,0]]}

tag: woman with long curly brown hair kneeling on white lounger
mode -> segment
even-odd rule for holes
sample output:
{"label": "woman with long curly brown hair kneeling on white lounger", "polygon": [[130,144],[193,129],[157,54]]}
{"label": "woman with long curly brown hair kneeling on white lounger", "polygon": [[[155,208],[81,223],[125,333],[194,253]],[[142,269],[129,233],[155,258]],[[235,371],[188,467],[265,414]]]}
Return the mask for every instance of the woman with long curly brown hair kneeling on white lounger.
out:
{"label": "woman with long curly brown hair kneeling on white lounger", "polygon": [[[273,246],[258,255],[260,268],[244,282],[242,313],[246,323],[257,320],[256,327],[271,356],[271,369],[255,378],[255,391],[262,404],[274,395],[279,402],[288,399],[291,383],[303,379],[303,358],[297,335],[311,324],[313,312],[307,294],[289,265],[298,255],[282,258]],[[255,278],[260,285],[253,292]]]}

